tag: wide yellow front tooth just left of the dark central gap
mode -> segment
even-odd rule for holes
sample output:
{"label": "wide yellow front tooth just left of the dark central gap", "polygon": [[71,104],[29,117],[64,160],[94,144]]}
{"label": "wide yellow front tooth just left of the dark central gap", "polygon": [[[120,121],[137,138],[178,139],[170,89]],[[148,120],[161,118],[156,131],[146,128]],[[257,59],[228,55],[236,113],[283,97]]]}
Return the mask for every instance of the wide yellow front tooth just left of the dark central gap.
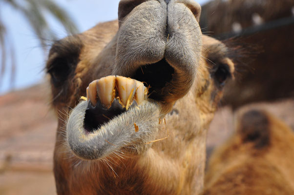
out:
{"label": "wide yellow front tooth just left of the dark central gap", "polygon": [[101,103],[110,108],[115,96],[115,76],[107,76],[97,80],[97,93]]}

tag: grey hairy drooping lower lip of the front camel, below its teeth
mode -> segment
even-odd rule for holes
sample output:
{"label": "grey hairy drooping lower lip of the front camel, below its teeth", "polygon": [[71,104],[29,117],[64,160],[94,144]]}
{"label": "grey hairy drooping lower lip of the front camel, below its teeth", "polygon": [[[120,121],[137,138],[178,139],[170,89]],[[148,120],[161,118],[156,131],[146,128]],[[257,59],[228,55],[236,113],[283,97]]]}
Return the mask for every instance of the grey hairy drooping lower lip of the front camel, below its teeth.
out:
{"label": "grey hairy drooping lower lip of the front camel, below its teeth", "polygon": [[66,142],[79,158],[102,159],[126,146],[140,152],[147,147],[146,142],[154,139],[158,130],[160,106],[152,100],[131,106],[92,132],[84,128],[88,105],[88,101],[80,102],[72,110],[66,124]]}

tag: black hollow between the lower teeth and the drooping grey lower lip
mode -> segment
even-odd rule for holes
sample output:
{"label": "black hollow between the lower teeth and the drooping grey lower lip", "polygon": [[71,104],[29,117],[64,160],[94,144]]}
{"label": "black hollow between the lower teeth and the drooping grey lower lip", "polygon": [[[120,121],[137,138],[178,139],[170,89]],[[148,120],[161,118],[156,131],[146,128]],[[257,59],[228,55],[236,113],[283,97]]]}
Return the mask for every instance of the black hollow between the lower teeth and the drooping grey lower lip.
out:
{"label": "black hollow between the lower teeth and the drooping grey lower lip", "polygon": [[95,107],[89,102],[84,117],[84,129],[88,133],[92,133],[115,116],[124,112],[126,112],[126,109],[116,99],[109,109],[102,106],[100,101],[97,102]]}

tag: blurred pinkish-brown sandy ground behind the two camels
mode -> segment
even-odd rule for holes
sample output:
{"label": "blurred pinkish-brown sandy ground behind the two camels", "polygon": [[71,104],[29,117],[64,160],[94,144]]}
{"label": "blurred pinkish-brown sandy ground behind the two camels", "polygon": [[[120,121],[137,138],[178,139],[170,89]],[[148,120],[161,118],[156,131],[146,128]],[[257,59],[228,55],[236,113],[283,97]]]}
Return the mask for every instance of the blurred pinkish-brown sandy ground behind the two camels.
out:
{"label": "blurred pinkish-brown sandy ground behind the two camels", "polygon": [[[0,97],[0,195],[54,195],[52,156],[57,120],[44,84]],[[250,105],[281,117],[294,129],[294,100]],[[208,133],[207,151],[233,131],[233,112],[221,108]]]}

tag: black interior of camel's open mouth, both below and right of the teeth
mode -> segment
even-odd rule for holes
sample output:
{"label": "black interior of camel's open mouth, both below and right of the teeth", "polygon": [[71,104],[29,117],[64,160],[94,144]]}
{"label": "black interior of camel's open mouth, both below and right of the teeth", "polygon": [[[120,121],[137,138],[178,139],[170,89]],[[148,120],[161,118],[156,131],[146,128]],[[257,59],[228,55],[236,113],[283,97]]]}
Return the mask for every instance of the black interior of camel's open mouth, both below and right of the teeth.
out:
{"label": "black interior of camel's open mouth, both below and right of the teeth", "polygon": [[[163,88],[167,87],[172,80],[174,69],[165,59],[156,63],[140,66],[130,78],[140,81],[148,89],[147,97],[155,101],[163,100]],[[117,93],[116,93],[117,94]],[[118,95],[115,95],[118,96]],[[145,98],[145,100],[148,100]],[[138,106],[137,101],[130,103],[130,106]],[[126,108],[119,98],[114,98],[109,106],[105,106],[99,99],[95,105],[89,101],[84,117],[84,129],[87,133],[93,133],[102,125],[114,117],[118,117]]]}

